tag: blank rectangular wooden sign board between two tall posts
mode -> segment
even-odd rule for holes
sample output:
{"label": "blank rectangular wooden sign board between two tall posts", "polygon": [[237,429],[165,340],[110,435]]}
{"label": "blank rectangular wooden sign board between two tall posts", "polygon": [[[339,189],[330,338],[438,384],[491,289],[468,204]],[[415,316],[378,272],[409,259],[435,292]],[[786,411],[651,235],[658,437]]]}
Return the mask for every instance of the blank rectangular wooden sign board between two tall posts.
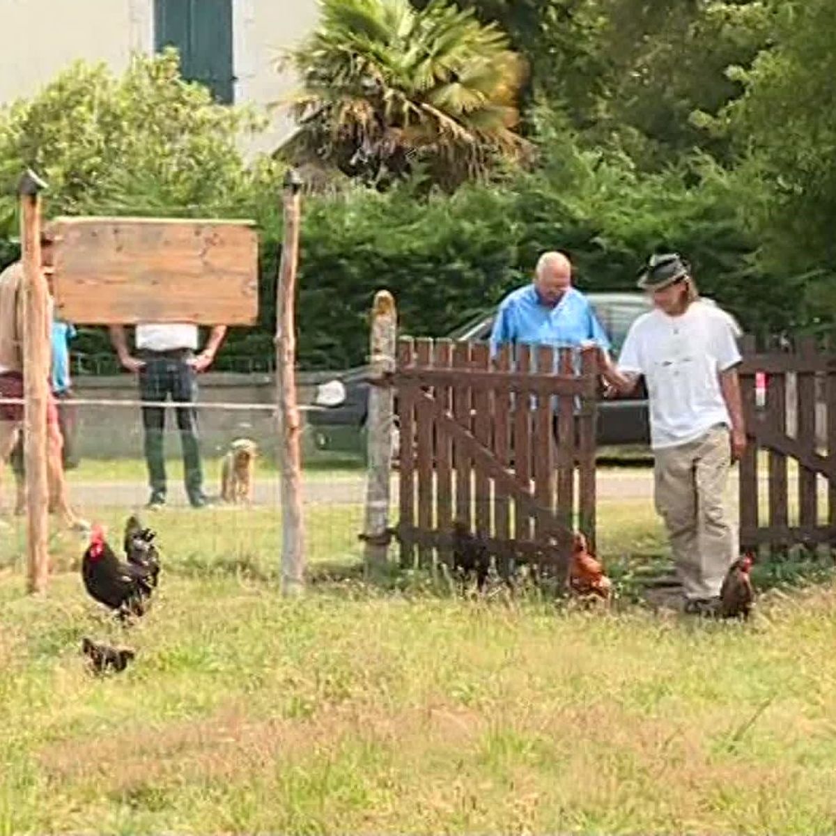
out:
{"label": "blank rectangular wooden sign board between two tall posts", "polygon": [[62,217],[56,315],[89,325],[253,325],[258,239],[250,221]]}

